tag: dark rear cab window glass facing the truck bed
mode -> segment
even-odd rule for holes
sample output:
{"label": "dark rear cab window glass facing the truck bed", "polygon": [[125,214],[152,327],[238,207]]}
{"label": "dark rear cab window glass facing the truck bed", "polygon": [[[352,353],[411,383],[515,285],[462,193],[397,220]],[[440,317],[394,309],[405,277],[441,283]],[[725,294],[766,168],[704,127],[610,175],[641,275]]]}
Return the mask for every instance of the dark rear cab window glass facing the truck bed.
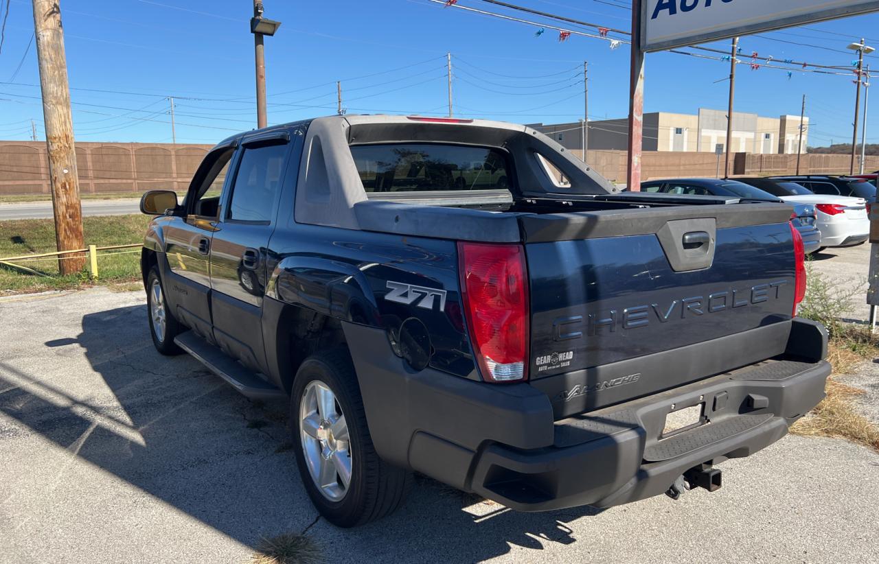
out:
{"label": "dark rear cab window glass facing the truck bed", "polygon": [[509,190],[511,166],[504,151],[437,143],[354,145],[367,192]]}

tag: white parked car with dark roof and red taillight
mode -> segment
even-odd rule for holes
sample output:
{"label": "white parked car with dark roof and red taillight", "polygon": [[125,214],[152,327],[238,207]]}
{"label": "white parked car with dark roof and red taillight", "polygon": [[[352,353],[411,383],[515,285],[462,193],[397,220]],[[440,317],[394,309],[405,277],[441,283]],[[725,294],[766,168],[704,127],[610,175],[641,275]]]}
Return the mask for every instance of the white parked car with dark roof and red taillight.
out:
{"label": "white parked car with dark roof and red taillight", "polygon": [[[870,232],[869,203],[862,198],[815,194],[803,184],[780,178],[736,178],[787,201],[815,206],[821,230],[821,249],[850,247],[866,242]],[[819,249],[820,250],[820,249]]]}

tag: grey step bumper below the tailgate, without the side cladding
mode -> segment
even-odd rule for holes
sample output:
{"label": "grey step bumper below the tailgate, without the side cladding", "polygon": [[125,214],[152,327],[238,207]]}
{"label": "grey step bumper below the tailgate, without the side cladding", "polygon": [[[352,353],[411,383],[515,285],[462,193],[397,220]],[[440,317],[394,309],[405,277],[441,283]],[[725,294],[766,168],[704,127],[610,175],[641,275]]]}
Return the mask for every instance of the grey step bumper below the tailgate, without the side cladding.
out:
{"label": "grey step bumper below the tailgate, without the side cladding", "polygon": [[[659,495],[694,466],[749,456],[783,437],[824,397],[828,374],[823,361],[768,363],[572,417],[556,423],[555,444],[546,449],[489,445],[476,458],[470,486],[528,511],[610,507]],[[657,440],[672,405],[698,404],[711,423]]]}

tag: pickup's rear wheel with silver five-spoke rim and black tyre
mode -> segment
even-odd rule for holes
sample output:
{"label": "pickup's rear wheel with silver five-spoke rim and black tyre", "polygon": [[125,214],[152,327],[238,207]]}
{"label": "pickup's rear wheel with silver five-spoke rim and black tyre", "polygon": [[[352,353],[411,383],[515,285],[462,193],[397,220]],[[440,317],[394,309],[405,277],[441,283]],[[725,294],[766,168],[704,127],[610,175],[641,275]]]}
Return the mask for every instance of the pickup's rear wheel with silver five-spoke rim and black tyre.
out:
{"label": "pickup's rear wheel with silver five-spoke rim and black tyre", "polygon": [[348,351],[306,358],[291,396],[296,465],[320,514],[339,527],[354,527],[395,511],[410,487],[410,473],[375,452]]}

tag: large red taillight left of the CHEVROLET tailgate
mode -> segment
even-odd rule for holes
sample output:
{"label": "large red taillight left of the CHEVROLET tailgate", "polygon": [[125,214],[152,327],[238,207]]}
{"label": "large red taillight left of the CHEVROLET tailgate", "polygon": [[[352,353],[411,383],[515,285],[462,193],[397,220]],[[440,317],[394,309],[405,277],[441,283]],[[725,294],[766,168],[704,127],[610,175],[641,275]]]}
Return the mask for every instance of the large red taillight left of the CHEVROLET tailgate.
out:
{"label": "large red taillight left of the CHEVROLET tailgate", "polygon": [[521,245],[459,242],[461,293],[483,380],[528,377],[528,277]]}

